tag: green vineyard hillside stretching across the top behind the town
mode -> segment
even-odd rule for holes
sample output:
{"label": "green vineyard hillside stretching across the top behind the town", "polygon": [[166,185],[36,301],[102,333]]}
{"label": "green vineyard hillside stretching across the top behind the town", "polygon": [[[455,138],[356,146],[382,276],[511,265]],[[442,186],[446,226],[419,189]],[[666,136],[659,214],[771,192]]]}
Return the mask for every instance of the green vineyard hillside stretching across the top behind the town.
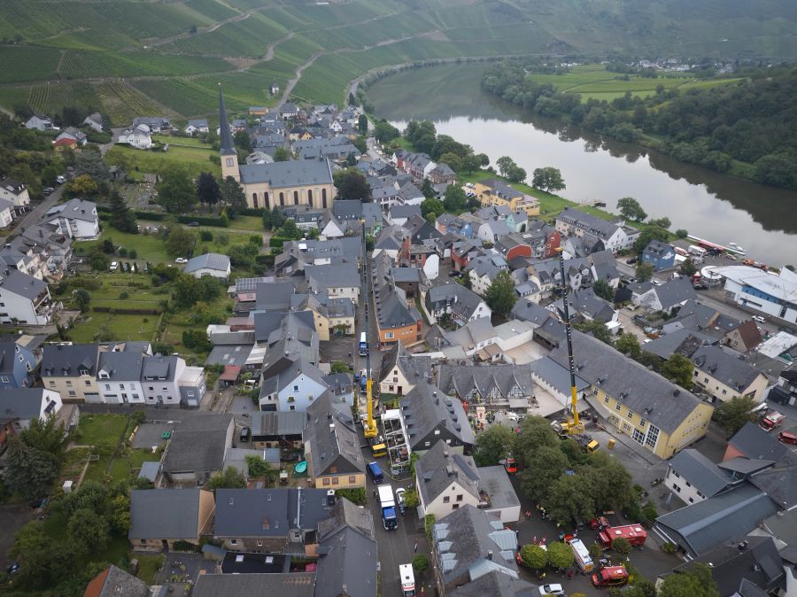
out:
{"label": "green vineyard hillside stretching across the top behind the town", "polygon": [[[213,115],[218,81],[234,108],[277,104],[272,82],[287,97],[341,102],[348,81],[383,66],[552,53],[797,58],[797,3],[27,0],[0,12],[0,106],[58,113],[80,102],[115,125],[142,113],[179,120]],[[615,91],[588,76],[570,83],[582,97]]]}

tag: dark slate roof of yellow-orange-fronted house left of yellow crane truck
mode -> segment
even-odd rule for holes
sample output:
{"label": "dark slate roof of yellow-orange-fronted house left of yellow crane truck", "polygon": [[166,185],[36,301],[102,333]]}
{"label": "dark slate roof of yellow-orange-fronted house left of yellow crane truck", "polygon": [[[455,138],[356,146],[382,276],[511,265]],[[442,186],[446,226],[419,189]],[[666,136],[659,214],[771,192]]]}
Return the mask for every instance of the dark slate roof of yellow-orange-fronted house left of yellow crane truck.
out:
{"label": "dark slate roof of yellow-orange-fronted house left of yellow crane truck", "polygon": [[[333,406],[335,399],[324,392],[307,408],[309,423],[305,430],[305,444],[310,447],[310,459],[315,477],[329,474],[330,467],[338,473],[365,472],[365,459],[360,452],[360,438],[350,425],[351,416]],[[331,417],[331,418],[330,418]],[[334,424],[334,431],[329,425]]]}

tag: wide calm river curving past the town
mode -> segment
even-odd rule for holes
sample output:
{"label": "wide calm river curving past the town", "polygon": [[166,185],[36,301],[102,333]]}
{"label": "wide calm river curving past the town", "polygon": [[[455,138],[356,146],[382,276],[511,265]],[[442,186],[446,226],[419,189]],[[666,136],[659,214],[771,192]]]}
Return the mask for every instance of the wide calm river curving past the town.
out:
{"label": "wide calm river curving past the town", "polygon": [[531,178],[536,167],[561,170],[576,202],[633,197],[672,229],[720,244],[736,243],[772,265],[797,265],[797,192],[684,164],[632,143],[601,142],[588,130],[523,111],[479,86],[484,65],[429,66],[368,88],[376,113],[404,128],[434,121],[437,133],[470,144],[491,163],[508,155]]}

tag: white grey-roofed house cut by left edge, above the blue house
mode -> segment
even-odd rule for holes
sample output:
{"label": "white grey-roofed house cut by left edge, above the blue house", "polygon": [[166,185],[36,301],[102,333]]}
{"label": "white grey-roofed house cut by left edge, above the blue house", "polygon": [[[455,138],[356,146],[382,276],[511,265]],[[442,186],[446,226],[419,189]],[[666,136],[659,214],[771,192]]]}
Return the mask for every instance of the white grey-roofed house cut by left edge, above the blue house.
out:
{"label": "white grey-roofed house cut by left edge, above the blue house", "polygon": [[49,323],[60,303],[53,304],[47,283],[16,269],[5,272],[0,272],[0,323]]}

